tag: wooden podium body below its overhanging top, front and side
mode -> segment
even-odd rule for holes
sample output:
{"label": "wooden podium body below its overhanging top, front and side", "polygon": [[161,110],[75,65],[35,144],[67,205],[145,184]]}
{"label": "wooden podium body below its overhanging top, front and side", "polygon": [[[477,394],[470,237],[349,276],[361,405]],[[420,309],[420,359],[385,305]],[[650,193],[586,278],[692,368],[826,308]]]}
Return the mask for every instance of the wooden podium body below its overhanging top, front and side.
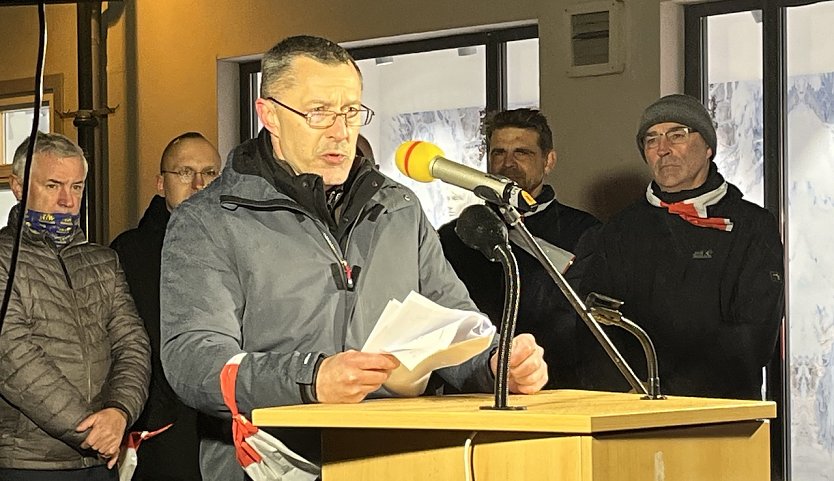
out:
{"label": "wooden podium body below its overhanging top, front and side", "polygon": [[461,481],[469,465],[478,481],[768,481],[768,433],[762,421],[599,435],[331,429],[322,479]]}

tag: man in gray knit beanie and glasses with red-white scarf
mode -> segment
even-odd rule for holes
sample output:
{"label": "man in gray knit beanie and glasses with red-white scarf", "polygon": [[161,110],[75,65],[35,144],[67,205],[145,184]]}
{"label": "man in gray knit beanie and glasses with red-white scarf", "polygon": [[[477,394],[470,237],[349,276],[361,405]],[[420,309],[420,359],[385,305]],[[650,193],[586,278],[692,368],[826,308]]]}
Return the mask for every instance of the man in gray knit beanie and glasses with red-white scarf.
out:
{"label": "man in gray knit beanie and glasses with red-white scarf", "polygon": [[[625,301],[622,313],[654,341],[666,394],[761,399],[784,309],[776,221],[718,172],[715,129],[697,99],[650,105],[637,145],[654,180],[645,200],[582,242],[579,290]],[[606,331],[646,379],[639,343]],[[582,344],[585,387],[627,390],[590,333]]]}

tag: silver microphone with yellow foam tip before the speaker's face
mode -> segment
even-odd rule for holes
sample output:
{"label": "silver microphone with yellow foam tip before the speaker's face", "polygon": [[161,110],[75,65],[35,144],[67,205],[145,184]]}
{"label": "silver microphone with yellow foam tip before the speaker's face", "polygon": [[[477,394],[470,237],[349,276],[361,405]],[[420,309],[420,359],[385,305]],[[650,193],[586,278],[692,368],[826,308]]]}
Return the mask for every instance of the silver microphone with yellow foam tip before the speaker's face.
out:
{"label": "silver microphone with yellow foam tip before the speaker's face", "polygon": [[440,179],[447,184],[469,190],[493,204],[509,204],[521,212],[536,210],[536,200],[512,180],[481,172],[443,157],[440,147],[431,142],[409,140],[397,147],[397,168],[419,181]]}

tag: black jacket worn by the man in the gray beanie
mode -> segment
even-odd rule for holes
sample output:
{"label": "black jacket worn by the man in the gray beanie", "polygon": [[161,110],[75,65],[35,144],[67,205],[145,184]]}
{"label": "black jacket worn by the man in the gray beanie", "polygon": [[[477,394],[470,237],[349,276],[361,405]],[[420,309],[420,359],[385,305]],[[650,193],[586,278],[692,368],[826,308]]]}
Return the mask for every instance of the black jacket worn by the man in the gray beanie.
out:
{"label": "black jacket worn by the man in the gray beanie", "polygon": [[[719,180],[714,172],[707,183]],[[583,240],[575,266],[582,271],[579,291],[625,301],[623,314],[657,349],[664,393],[761,399],[762,367],[773,354],[784,310],[779,229],[733,185],[708,213],[729,218],[732,231],[696,227],[646,200],[626,208]],[[615,327],[604,329],[645,380],[637,341]],[[590,331],[582,332],[583,387],[628,390]]]}

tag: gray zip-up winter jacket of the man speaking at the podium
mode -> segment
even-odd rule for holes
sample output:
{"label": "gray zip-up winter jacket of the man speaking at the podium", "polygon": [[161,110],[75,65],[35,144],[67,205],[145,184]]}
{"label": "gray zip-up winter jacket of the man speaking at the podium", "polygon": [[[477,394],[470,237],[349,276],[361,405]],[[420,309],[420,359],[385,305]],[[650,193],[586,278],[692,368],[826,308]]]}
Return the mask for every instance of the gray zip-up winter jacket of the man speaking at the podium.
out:
{"label": "gray zip-up winter jacket of the man speaking at the podium", "polygon": [[[243,479],[219,385],[232,356],[250,353],[238,374],[241,412],[302,404],[310,402],[304,393],[316,361],[360,349],[389,300],[414,290],[476,310],[411,191],[361,160],[346,186],[336,222],[321,177],[279,167],[262,132],[171,217],[162,252],[162,363],[177,394],[213,417],[201,425],[206,481]],[[438,374],[455,389],[489,391],[489,351]],[[318,431],[269,431],[320,459]]]}

